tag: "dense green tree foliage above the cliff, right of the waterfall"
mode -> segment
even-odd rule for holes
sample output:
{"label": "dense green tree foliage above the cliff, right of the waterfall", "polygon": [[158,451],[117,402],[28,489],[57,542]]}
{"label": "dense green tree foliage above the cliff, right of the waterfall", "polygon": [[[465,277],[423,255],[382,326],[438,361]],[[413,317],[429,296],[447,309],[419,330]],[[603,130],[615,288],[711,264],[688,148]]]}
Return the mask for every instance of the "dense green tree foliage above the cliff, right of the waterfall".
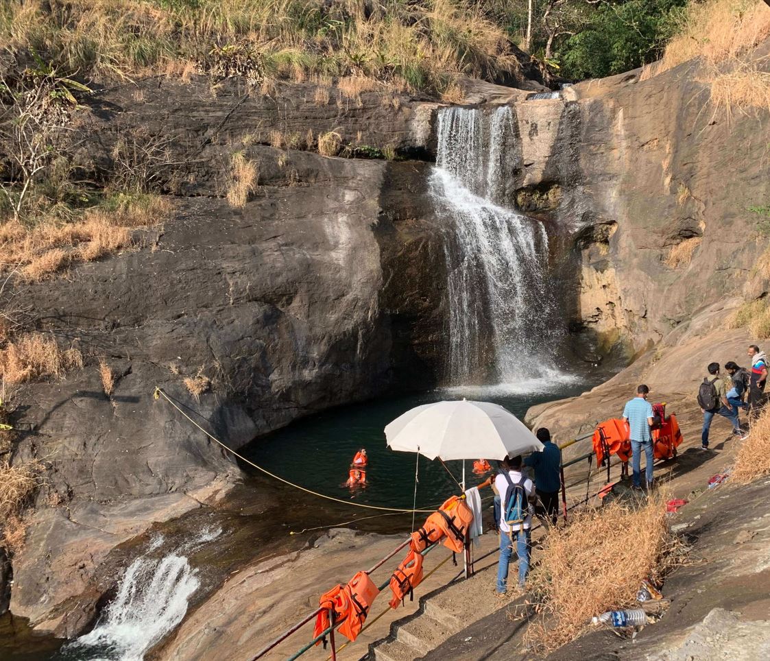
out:
{"label": "dense green tree foliage above the cliff, right of the waterfall", "polygon": [[583,29],[556,49],[561,75],[601,78],[654,62],[686,0],[625,0],[598,5]]}

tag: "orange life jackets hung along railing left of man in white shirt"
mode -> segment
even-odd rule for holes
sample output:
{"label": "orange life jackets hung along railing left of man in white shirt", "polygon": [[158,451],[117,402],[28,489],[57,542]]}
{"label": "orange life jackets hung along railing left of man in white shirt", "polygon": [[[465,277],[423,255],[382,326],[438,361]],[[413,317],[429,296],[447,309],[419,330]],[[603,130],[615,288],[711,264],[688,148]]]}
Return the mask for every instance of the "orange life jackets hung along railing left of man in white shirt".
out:
{"label": "orange life jackets hung along railing left of man in white shirt", "polygon": [[[413,599],[413,590],[423,579],[422,552],[442,539],[447,549],[454,553],[462,552],[473,520],[473,512],[464,499],[451,496],[428,516],[419,530],[412,533],[406,557],[390,576],[388,587],[393,593],[391,608],[397,608],[407,596]],[[374,585],[367,572],[358,572],[346,586],[338,585],[324,592],[318,602],[323,610],[316,616],[313,637],[317,638],[332,625],[339,625],[337,630],[352,643],[363,629],[363,623],[378,594],[380,589]],[[321,642],[316,641],[316,645]],[[323,643],[326,643],[325,639]]]}

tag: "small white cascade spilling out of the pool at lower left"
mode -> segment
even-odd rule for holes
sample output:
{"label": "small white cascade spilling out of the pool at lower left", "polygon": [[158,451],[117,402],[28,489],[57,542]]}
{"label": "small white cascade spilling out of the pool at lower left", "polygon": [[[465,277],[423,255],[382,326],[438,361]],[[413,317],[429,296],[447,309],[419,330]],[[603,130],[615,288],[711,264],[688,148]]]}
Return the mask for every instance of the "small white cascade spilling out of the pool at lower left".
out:
{"label": "small white cascade spilling out of the pool at lower left", "polygon": [[115,599],[91,632],[62,650],[63,659],[142,661],[145,653],[174,629],[187,612],[200,582],[182,553],[192,553],[222,532],[205,529],[175,552],[154,557],[162,545],[156,538],[147,552],[126,569]]}

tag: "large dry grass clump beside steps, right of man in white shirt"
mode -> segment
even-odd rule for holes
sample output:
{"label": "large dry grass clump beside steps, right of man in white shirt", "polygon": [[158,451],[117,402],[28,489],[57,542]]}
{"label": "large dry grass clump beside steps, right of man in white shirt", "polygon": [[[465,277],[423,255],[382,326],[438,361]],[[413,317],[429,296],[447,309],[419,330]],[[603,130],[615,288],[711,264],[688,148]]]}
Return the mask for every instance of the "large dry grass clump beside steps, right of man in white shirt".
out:
{"label": "large dry grass clump beside steps, right of man in white shirt", "polygon": [[579,636],[591,618],[635,603],[643,579],[659,581],[671,548],[665,498],[638,508],[613,503],[549,532],[531,586],[544,618],[525,638],[551,650]]}

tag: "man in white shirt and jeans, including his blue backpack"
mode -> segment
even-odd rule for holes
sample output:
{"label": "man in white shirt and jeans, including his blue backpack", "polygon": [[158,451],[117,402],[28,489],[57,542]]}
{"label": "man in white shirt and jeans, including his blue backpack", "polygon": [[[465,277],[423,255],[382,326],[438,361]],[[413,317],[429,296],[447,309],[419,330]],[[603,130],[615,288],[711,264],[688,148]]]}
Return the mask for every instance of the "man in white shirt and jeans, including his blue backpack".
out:
{"label": "man in white shirt and jeans, including his blue backpack", "polygon": [[531,479],[524,477],[521,470],[521,456],[505,458],[498,466],[500,471],[494,478],[494,486],[500,494],[500,561],[495,591],[504,595],[514,543],[519,557],[519,587],[524,588],[529,571],[531,508],[537,496]]}

